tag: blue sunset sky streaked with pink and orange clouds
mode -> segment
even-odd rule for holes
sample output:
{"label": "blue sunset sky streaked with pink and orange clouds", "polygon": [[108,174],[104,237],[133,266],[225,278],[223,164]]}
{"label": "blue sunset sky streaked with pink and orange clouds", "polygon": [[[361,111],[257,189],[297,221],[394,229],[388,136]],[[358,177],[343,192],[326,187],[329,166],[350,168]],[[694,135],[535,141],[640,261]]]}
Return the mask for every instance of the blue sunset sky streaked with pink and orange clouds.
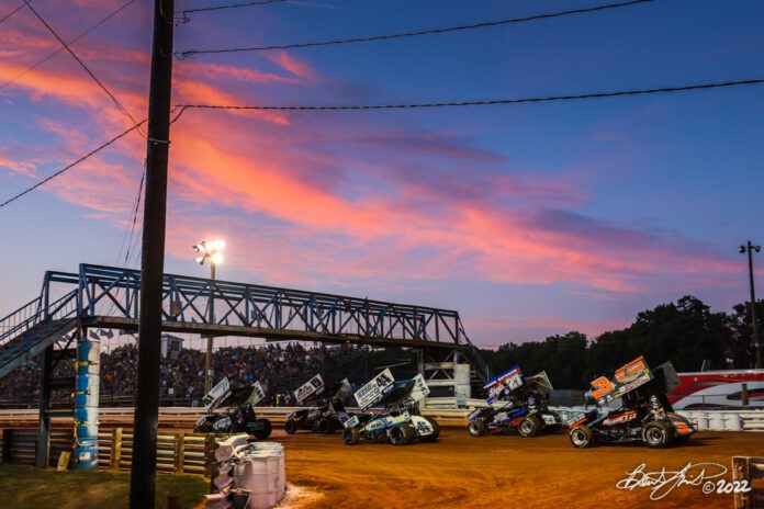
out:
{"label": "blue sunset sky streaked with pink and orange clouds", "polygon": [[[764,79],[764,3],[177,0],[173,105],[481,102]],[[147,117],[149,0],[0,0],[0,203]],[[104,21],[105,20],[105,21]],[[193,53],[189,53],[193,52]],[[117,103],[120,106],[117,106]],[[177,110],[176,112],[179,112]],[[173,115],[175,117],[175,115]],[[168,273],[460,313],[473,343],[595,338],[694,295],[748,301],[764,244],[764,84],[453,108],[186,109]],[[46,270],[139,268],[136,129],[0,207],[5,316]],[[764,253],[754,255],[761,279]],[[764,292],[764,287],[761,292]]]}

